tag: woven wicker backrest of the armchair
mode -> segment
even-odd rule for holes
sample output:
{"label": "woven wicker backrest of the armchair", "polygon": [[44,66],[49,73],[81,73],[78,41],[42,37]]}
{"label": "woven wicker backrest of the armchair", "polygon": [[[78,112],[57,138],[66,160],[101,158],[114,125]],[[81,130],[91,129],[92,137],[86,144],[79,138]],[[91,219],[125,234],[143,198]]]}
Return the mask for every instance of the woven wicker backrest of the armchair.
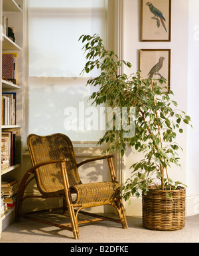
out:
{"label": "woven wicker backrest of the armchair", "polygon": [[[27,137],[32,164],[39,164],[48,160],[68,158],[67,174],[70,186],[82,184],[76,166],[76,157],[72,142],[64,134],[52,134],[48,136],[38,136],[30,134]],[[62,173],[60,164],[50,164],[38,168],[35,172],[36,184],[40,191],[49,187],[49,184],[56,188],[63,188]]]}

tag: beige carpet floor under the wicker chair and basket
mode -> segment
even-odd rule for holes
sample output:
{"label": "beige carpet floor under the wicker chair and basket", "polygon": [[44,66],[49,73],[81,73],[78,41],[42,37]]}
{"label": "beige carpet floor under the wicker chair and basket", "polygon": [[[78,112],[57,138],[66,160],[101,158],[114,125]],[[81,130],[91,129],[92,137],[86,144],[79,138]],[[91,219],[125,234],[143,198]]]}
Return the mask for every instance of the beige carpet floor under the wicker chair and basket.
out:
{"label": "beige carpet floor under the wicker chair and basket", "polygon": [[[84,218],[84,217],[83,217]],[[55,213],[50,219],[57,220]],[[1,233],[0,243],[197,243],[199,215],[186,217],[186,225],[178,231],[151,231],[142,226],[141,217],[127,217],[129,229],[120,224],[101,221],[80,226],[80,240],[72,232],[42,223],[21,219]],[[70,245],[71,246],[71,245]]]}

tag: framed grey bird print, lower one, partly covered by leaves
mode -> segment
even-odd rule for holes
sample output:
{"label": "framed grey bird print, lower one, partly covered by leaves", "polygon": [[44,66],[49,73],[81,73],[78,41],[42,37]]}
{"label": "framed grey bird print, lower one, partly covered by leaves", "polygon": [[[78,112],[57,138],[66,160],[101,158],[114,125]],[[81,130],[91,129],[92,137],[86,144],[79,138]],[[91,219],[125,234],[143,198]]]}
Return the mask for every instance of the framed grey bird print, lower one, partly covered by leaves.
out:
{"label": "framed grey bird print, lower one, partly covered by leaves", "polygon": [[[141,49],[140,51],[141,78],[151,78],[154,81],[166,79],[163,90],[170,90],[170,49]],[[166,88],[165,88],[166,87]]]}

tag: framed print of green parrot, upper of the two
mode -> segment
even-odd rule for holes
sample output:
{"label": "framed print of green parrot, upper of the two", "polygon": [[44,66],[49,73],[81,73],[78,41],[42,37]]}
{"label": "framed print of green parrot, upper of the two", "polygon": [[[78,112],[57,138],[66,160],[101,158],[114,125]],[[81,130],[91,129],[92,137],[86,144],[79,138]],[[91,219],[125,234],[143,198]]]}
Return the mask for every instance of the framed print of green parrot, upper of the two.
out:
{"label": "framed print of green parrot, upper of the two", "polygon": [[141,0],[141,41],[170,42],[170,1]]}

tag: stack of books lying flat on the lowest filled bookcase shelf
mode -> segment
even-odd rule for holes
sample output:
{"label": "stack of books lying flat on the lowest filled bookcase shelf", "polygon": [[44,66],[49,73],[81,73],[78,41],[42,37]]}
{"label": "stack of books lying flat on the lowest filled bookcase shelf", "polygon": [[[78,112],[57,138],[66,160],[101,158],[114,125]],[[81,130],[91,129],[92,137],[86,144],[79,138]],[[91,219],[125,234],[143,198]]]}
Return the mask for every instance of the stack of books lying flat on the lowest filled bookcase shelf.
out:
{"label": "stack of books lying flat on the lowest filled bookcase shelf", "polygon": [[11,210],[15,208],[15,201],[17,197],[18,188],[19,188],[19,183],[17,182],[17,180],[13,180],[13,179],[2,180],[1,198],[3,198],[4,208],[7,208],[7,210]]}

